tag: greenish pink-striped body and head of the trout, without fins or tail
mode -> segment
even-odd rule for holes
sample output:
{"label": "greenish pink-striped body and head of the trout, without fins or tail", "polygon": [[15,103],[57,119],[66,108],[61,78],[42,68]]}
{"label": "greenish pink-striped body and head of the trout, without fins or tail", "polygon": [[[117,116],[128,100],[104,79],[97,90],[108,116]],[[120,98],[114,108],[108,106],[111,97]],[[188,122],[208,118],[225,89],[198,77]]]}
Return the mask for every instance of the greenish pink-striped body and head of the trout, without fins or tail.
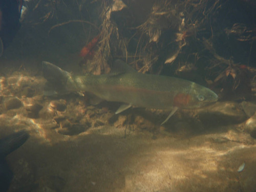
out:
{"label": "greenish pink-striped body and head of the trout, without fins or tail", "polygon": [[[216,99],[211,91],[194,82],[175,77],[150,75],[141,73],[124,73],[119,75],[77,76],[76,90],[88,91],[107,101],[129,103],[149,109],[171,110],[194,108],[209,102],[196,102],[191,95]],[[205,90],[206,89],[206,90]],[[209,91],[209,93],[205,93]],[[178,99],[178,98],[183,99]],[[212,98],[213,97],[213,98]],[[185,98],[185,99],[184,99]],[[187,98],[187,99],[186,99]]]}

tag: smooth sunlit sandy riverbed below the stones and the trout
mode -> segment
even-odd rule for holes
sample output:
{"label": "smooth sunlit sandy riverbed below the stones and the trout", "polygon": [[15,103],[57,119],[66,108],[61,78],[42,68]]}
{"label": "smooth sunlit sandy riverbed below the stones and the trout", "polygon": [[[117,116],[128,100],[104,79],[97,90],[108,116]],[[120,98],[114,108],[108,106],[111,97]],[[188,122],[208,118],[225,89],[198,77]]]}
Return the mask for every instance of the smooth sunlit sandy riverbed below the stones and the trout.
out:
{"label": "smooth sunlit sandy riverbed below the stones and the trout", "polygon": [[[31,138],[8,156],[10,191],[255,191],[256,145],[240,135],[127,132],[113,126],[77,136]],[[41,135],[42,136],[42,135]],[[248,140],[250,140],[248,138]],[[245,162],[245,168],[238,172]],[[48,189],[48,190],[47,190]],[[51,190],[50,190],[51,189]]]}

